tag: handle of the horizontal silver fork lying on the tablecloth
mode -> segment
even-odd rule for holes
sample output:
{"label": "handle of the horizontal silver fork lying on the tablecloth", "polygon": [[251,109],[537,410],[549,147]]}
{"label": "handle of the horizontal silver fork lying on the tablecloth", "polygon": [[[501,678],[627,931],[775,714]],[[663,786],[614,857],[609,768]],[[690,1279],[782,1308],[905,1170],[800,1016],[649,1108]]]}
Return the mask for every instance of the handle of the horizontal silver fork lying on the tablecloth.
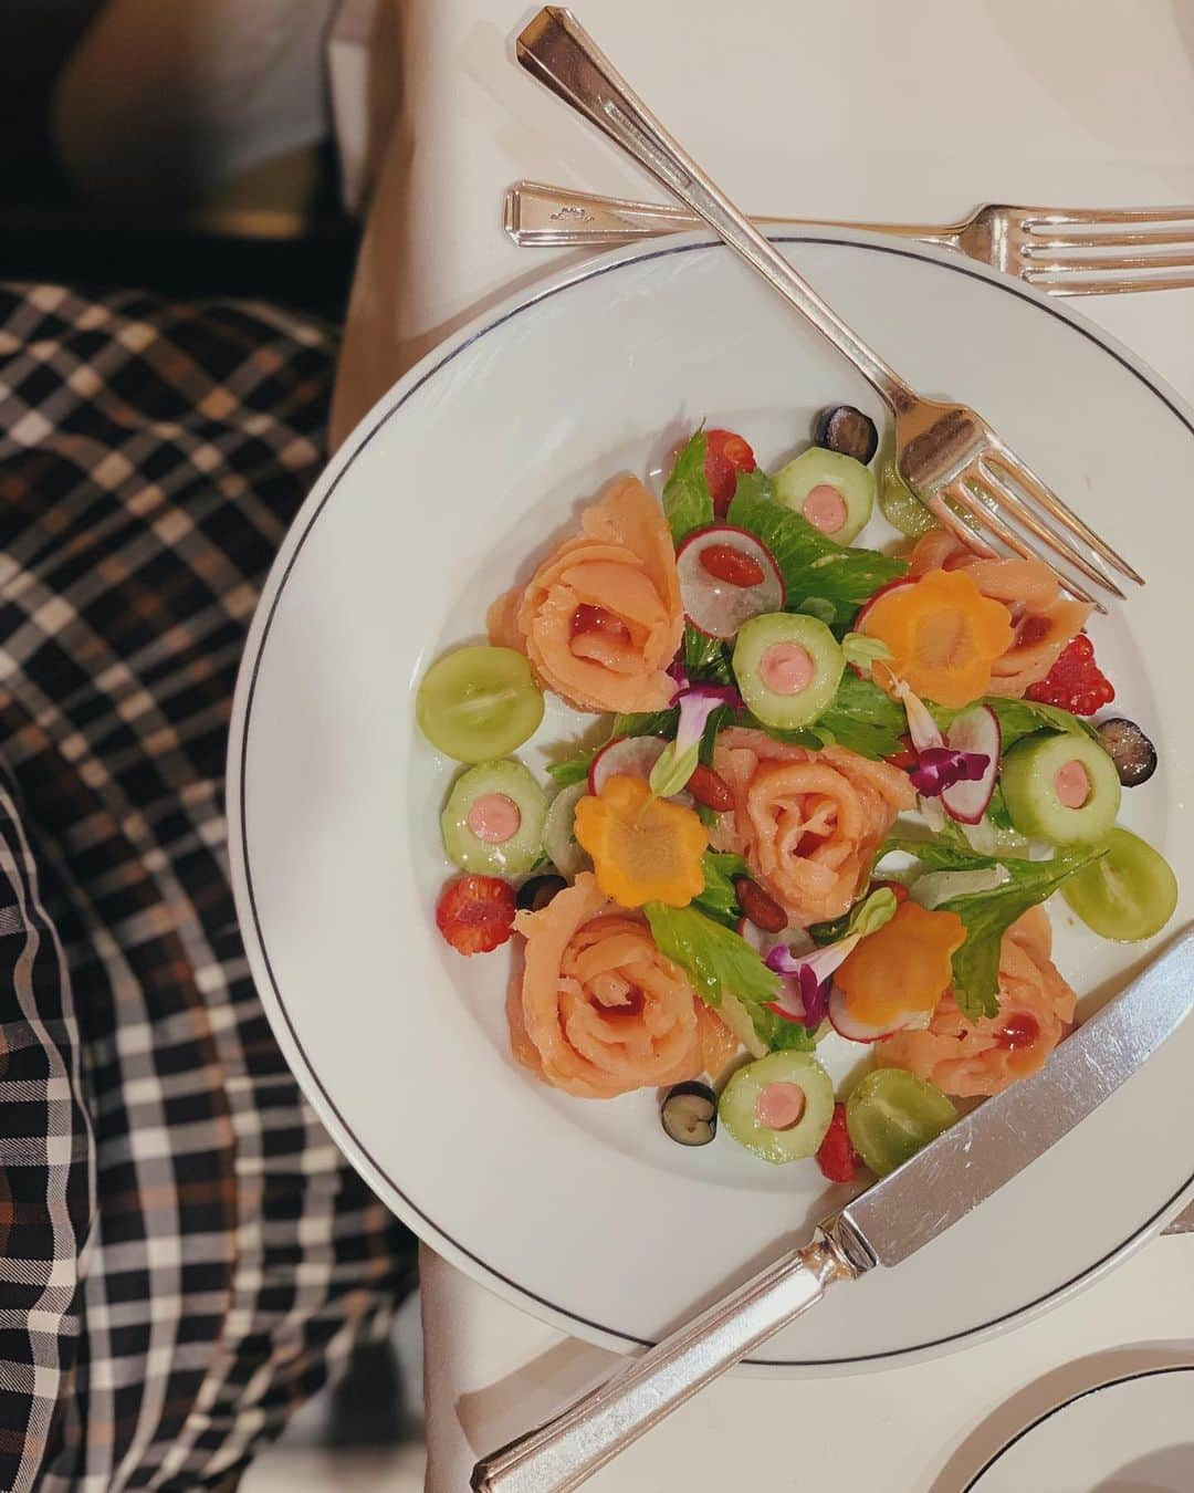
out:
{"label": "handle of the horizontal silver fork lying on the tablecloth", "polygon": [[[958,248],[958,228],[930,222],[858,222],[843,218],[751,215],[751,222],[787,228],[858,228],[921,243]],[[701,218],[667,203],[631,202],[545,182],[519,181],[506,190],[506,233],[519,248],[597,248],[698,228]]]}

